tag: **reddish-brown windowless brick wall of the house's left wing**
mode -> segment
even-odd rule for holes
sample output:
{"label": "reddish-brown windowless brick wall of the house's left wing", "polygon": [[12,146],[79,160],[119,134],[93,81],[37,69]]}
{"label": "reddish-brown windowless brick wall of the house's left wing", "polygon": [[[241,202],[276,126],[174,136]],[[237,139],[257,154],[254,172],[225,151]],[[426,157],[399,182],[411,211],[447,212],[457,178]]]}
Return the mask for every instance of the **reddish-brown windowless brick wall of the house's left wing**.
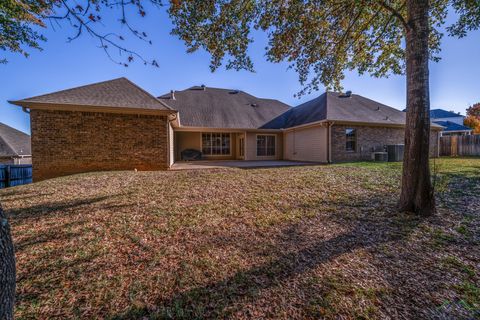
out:
{"label": "reddish-brown windowless brick wall of the house's left wing", "polygon": [[168,168],[167,118],[31,110],[33,178]]}

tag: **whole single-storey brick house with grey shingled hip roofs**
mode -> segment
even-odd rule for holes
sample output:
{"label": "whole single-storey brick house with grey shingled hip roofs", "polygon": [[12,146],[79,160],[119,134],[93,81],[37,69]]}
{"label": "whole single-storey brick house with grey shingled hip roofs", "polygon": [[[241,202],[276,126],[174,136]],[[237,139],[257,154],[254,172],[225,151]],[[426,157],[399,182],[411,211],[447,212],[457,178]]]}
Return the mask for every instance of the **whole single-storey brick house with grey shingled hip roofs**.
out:
{"label": "whole single-storey brick house with grey shingled hip roofs", "polygon": [[[405,113],[327,92],[292,108],[238,90],[155,98],[120,78],[11,103],[30,110],[35,180],[94,170],[168,169],[186,149],[211,160],[368,160],[404,142]],[[432,156],[439,131],[432,125]]]}

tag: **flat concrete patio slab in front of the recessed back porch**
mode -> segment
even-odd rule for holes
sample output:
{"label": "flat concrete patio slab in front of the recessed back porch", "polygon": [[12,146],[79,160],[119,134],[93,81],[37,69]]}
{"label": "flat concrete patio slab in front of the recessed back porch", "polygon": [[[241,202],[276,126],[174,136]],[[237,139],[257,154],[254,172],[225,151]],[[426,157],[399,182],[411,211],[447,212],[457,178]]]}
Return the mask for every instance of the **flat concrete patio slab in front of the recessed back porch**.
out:
{"label": "flat concrete patio slab in front of the recessed back porch", "polygon": [[170,170],[200,170],[213,168],[272,168],[272,167],[291,167],[291,166],[311,166],[318,165],[316,162],[287,161],[287,160],[225,160],[225,161],[178,161],[175,162]]}

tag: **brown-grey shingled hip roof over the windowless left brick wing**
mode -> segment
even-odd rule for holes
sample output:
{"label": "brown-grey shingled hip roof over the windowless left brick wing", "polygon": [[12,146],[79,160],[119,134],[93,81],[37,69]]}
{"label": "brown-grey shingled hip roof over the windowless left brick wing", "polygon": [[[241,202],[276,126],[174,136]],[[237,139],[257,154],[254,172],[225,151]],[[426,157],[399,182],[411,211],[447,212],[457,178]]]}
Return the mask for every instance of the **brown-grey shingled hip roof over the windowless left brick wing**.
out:
{"label": "brown-grey shingled hip roof over the windowless left brick wing", "polygon": [[127,78],[93,83],[19,101],[11,101],[11,103],[20,106],[47,104],[171,110],[165,103],[159,101]]}

